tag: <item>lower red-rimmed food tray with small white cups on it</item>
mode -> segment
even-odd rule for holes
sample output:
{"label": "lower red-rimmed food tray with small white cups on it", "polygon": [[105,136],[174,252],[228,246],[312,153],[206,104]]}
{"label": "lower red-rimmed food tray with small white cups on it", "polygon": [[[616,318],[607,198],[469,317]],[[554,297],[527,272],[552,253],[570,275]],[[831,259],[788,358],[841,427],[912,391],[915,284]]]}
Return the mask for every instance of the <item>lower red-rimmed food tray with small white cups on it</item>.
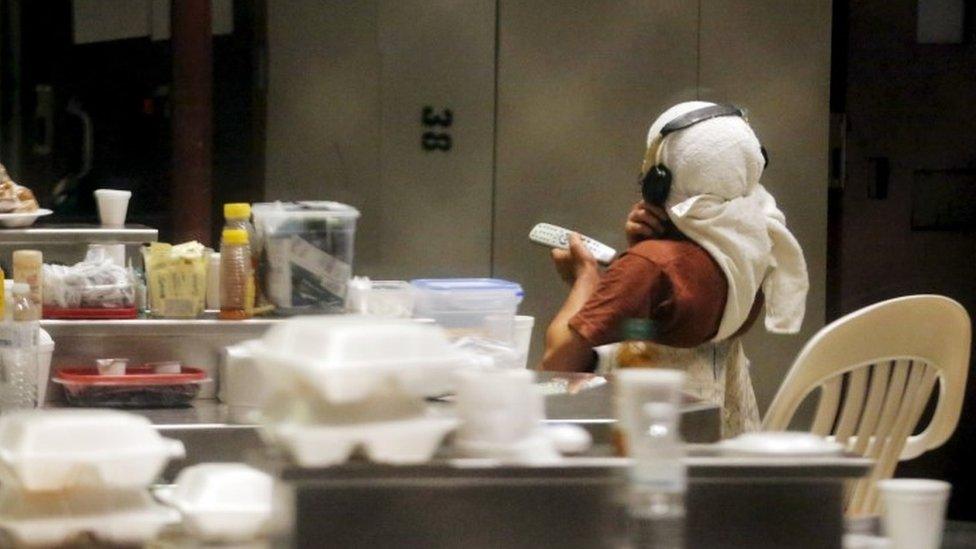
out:
{"label": "lower red-rimmed food tray with small white cups on it", "polygon": [[71,406],[170,408],[189,406],[207,374],[184,366],[178,374],[158,374],[152,366],[133,366],[124,375],[103,375],[92,367],[62,368],[54,383]]}

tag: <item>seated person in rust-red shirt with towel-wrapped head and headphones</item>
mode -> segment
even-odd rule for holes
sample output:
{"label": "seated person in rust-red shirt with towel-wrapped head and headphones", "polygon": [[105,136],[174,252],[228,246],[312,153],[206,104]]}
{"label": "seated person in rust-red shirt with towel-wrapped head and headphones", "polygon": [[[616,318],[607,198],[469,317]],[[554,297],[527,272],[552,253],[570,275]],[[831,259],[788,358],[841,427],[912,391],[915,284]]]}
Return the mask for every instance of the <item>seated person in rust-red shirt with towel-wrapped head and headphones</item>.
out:
{"label": "seated person in rust-red shirt with towel-wrapped head and headphones", "polygon": [[738,108],[693,101],[661,114],[647,137],[644,200],[625,222],[628,249],[606,272],[579,235],[552,251],[570,291],[542,368],[593,371],[595,349],[619,341],[624,320],[649,318],[667,366],[722,407],[723,437],[758,429],[740,336],[763,310],[768,331],[799,331],[809,288],[803,252],[759,183],[767,162]]}

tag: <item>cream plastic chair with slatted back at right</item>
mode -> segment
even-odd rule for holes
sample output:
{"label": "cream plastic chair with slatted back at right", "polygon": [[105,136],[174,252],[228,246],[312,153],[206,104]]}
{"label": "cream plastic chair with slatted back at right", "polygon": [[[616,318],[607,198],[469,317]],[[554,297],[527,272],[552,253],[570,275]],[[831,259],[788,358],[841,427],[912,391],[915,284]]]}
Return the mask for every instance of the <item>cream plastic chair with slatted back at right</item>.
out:
{"label": "cream plastic chair with slatted back at right", "polygon": [[[782,431],[803,400],[820,390],[811,431],[875,460],[868,478],[849,486],[847,514],[876,514],[878,480],[899,460],[938,448],[959,423],[969,371],[971,325],[947,297],[883,301],[822,329],[800,352],[773,399],[763,429]],[[912,435],[939,382],[925,430]]]}

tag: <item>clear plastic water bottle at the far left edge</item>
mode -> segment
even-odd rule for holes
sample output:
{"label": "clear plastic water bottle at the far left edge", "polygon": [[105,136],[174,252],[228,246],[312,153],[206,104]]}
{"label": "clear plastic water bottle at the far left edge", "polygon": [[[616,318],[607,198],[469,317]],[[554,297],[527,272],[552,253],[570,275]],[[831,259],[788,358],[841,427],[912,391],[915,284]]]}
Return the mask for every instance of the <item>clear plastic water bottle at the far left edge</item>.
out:
{"label": "clear plastic water bottle at the far left edge", "polygon": [[0,413],[37,406],[37,338],[31,287],[14,284],[13,321],[3,323],[0,344]]}

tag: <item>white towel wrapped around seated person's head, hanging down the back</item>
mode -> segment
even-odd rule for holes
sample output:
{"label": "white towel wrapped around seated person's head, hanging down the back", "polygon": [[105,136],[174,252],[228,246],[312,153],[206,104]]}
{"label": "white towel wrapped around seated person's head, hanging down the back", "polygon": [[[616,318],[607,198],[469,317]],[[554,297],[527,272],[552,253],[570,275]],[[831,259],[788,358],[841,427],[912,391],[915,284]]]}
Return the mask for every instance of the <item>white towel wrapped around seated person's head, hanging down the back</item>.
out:
{"label": "white towel wrapped around seated person's head, hanging down the back", "polygon": [[[651,125],[648,146],[665,124],[708,105],[692,101],[665,111]],[[786,216],[759,184],[764,160],[749,124],[735,116],[700,122],[666,136],[658,158],[672,174],[665,204],[669,217],[708,251],[728,280],[714,340],[742,327],[760,288],[766,296],[766,329],[799,331],[809,289],[806,261]]]}

